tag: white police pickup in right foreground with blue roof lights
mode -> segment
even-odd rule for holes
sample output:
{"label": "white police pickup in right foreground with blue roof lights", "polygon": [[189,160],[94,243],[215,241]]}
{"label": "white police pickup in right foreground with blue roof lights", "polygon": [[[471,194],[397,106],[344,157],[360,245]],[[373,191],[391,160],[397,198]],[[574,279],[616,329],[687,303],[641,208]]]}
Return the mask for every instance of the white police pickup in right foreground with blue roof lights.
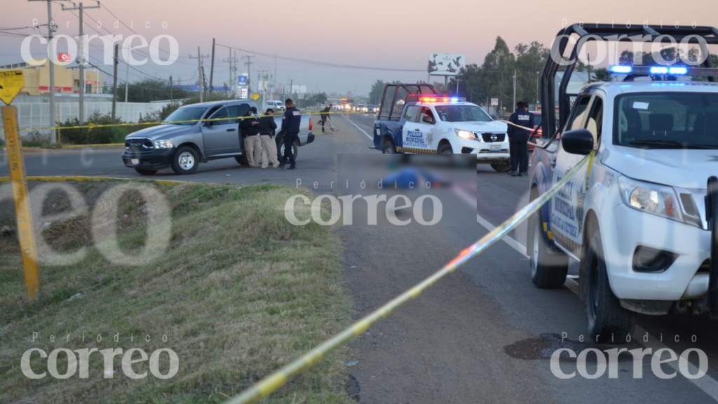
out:
{"label": "white police pickup in right foreground with blue roof lights", "polygon": [[568,257],[580,262],[597,341],[630,334],[633,312],[718,314],[709,293],[718,208],[711,213],[707,202],[718,174],[718,83],[676,81],[690,70],[616,67],[653,81],[585,86],[562,130],[539,140],[531,157],[533,200],[595,152],[533,216],[527,249],[538,288],[560,287]]}

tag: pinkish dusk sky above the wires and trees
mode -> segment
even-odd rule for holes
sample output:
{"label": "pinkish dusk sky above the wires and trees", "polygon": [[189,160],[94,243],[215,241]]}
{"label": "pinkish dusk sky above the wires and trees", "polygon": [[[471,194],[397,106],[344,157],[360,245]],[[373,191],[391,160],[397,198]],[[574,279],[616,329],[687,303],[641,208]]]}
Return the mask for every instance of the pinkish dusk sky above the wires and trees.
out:
{"label": "pinkish dusk sky above the wires and trees", "polygon": [[[28,27],[37,19],[47,22],[44,1],[3,0],[0,29]],[[57,1],[53,4],[56,34],[78,34],[78,20],[70,12],[63,12]],[[103,9],[88,10],[85,19],[87,34],[97,34],[92,19],[100,21],[115,35],[131,35],[123,25],[113,27],[116,14],[134,31],[148,40],[157,35],[172,35],[180,45],[182,56],[211,51],[212,38],[223,45],[246,50],[276,54],[290,58],[317,60],[327,63],[360,65],[376,68],[425,70],[429,52],[465,54],[468,63],[482,63],[484,56],[503,37],[510,49],[531,41],[550,45],[562,27],[562,22],[615,24],[679,24],[718,25],[714,17],[715,0],[646,1],[604,0],[600,6],[587,1],[544,0],[473,1],[473,0],[363,0],[363,1],[237,1],[237,0],[107,0]],[[85,5],[93,5],[86,1]],[[679,6],[676,6],[679,4]],[[9,10],[9,12],[8,12]],[[163,22],[167,28],[163,29]],[[69,27],[68,24],[69,23]],[[147,28],[149,26],[149,28]],[[45,35],[45,28],[34,30]],[[103,35],[108,32],[98,29]],[[14,32],[32,33],[33,29]],[[0,65],[22,62],[22,37],[0,36]],[[93,41],[101,46],[101,41]],[[168,49],[167,42],[162,42]],[[34,42],[32,51],[42,57],[42,45]],[[62,49],[60,49],[61,51]],[[146,50],[146,49],[145,49]],[[93,50],[95,58],[101,52]],[[238,57],[246,55],[238,52]],[[215,84],[229,80],[229,50],[217,47],[215,55]],[[274,73],[274,58],[257,56],[251,74],[258,68]],[[104,66],[111,71],[112,66]],[[205,60],[209,76],[210,64]],[[180,58],[169,66],[148,63],[138,67],[149,75],[182,83],[197,80],[197,60]],[[122,71],[122,70],[121,70]],[[246,68],[240,68],[245,72]],[[371,83],[384,81],[426,80],[426,73],[395,72],[333,68],[307,65],[295,61],[278,60],[278,83],[304,84],[309,91],[368,93]],[[123,79],[124,74],[120,77]],[[130,70],[130,81],[146,78]],[[437,80],[439,81],[439,80]]]}

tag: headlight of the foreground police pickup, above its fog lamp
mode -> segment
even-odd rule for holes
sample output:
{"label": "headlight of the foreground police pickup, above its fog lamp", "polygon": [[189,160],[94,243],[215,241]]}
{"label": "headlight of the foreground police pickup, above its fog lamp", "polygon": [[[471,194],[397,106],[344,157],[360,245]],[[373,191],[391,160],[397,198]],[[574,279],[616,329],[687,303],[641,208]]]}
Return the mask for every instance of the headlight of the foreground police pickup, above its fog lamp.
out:
{"label": "headlight of the foreground police pickup, above its fog lamp", "polygon": [[618,178],[623,203],[630,208],[668,219],[684,221],[679,208],[678,196],[673,188],[627,177]]}

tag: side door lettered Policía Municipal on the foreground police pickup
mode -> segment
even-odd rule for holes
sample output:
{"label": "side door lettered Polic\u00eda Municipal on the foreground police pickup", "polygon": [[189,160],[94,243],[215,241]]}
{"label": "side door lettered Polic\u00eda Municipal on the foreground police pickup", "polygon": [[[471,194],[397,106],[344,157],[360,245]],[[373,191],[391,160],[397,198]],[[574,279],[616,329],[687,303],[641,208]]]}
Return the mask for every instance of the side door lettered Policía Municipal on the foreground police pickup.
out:
{"label": "side door lettered Polic\u00eda Municipal on the foreground police pickup", "polygon": [[[599,128],[596,125],[594,110],[589,109],[594,96],[587,94],[581,96],[572,111],[571,117],[564,128],[564,132],[573,129],[586,128],[590,121],[593,122],[594,130]],[[595,98],[599,100],[600,98]],[[602,114],[602,103],[600,103],[600,114]],[[589,111],[591,113],[589,114]],[[589,115],[592,116],[589,119]],[[559,139],[560,142],[560,139]],[[556,167],[553,170],[552,183],[556,183],[564,177],[564,174],[571,170],[574,165],[584,158],[582,155],[572,155],[561,147],[556,151]],[[586,195],[586,173],[587,166],[584,165],[579,173],[574,175],[564,186],[551,198],[551,233],[556,243],[560,244],[569,252],[579,257],[579,246],[582,244],[582,226],[584,216],[584,197]]]}

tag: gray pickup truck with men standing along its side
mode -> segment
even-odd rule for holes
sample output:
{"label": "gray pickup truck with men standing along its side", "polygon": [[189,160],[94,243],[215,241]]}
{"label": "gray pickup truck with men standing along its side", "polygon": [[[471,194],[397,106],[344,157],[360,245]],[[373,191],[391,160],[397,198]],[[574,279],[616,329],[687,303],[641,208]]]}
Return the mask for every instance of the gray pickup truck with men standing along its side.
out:
{"label": "gray pickup truck with men standing along its side", "polygon": [[[251,100],[182,106],[159,126],[129,134],[125,138],[122,161],[126,167],[134,168],[141,175],[154,175],[165,167],[172,167],[174,173],[180,175],[192,174],[200,162],[229,157],[241,165],[248,165],[237,117],[244,116],[252,106],[256,104]],[[277,128],[281,128],[282,116],[276,116],[275,120]],[[284,153],[284,134],[278,134],[275,139],[281,157]],[[299,142],[294,143],[294,156],[298,155],[299,146],[313,141],[312,118],[302,115]]]}

